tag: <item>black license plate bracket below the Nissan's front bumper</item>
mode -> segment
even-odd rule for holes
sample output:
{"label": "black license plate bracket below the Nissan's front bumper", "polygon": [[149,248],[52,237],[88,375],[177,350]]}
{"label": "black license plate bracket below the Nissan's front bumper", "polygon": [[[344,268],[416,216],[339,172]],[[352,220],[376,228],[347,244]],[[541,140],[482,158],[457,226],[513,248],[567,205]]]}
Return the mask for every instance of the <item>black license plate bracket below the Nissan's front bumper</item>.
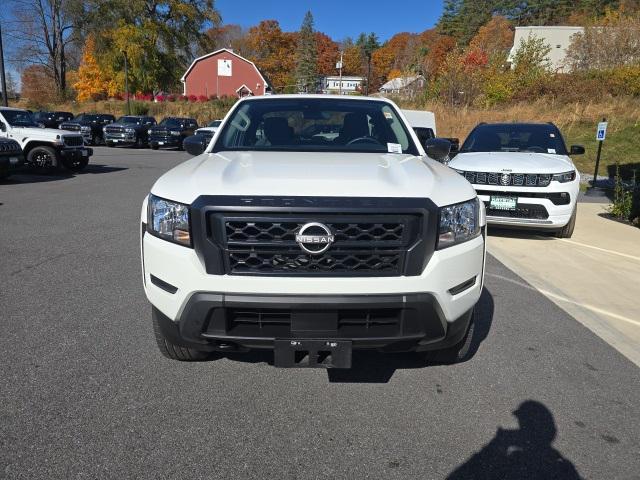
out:
{"label": "black license plate bracket below the Nissan's front bumper", "polygon": [[276,340],[273,364],[284,368],[351,368],[351,342]]}

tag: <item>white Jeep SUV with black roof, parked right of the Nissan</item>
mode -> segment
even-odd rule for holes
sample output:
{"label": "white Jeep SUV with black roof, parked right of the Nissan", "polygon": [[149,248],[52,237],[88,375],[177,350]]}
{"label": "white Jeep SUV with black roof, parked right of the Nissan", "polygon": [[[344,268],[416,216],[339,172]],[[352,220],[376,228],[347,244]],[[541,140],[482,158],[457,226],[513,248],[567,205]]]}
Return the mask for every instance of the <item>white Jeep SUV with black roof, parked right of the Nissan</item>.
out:
{"label": "white Jeep SUV with black roof, parked right of the Nissan", "polygon": [[552,123],[481,123],[448,163],[476,189],[487,223],[571,237],[580,175]]}

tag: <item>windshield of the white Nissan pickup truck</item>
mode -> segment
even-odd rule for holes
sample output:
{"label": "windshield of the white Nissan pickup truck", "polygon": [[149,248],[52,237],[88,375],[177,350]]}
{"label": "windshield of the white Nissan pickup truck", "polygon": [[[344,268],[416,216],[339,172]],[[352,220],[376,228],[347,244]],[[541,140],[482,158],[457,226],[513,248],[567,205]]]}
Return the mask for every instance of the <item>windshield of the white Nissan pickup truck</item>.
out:
{"label": "windshield of the white Nissan pickup truck", "polygon": [[214,146],[223,150],[418,154],[388,103],[304,97],[241,103]]}

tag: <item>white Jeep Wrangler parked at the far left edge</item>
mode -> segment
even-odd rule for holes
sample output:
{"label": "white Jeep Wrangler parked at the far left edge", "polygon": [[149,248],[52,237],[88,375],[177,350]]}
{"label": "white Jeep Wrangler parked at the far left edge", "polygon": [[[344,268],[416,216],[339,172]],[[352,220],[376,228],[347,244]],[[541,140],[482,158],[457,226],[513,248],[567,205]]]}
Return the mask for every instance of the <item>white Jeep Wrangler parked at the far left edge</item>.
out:
{"label": "white Jeep Wrangler parked at the far left edge", "polygon": [[65,167],[80,171],[93,155],[82,135],[53,128],[40,128],[27,110],[0,107],[0,137],[16,140],[25,164],[40,171]]}

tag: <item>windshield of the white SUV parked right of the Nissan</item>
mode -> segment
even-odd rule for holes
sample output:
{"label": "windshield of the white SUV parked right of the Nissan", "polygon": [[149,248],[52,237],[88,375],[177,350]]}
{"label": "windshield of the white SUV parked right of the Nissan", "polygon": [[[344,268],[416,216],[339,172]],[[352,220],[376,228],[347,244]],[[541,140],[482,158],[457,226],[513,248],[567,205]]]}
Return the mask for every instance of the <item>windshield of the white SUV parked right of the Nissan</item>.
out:
{"label": "windshield of the white SUV parked right of the Nissan", "polygon": [[566,155],[560,131],[553,125],[479,125],[464,141],[464,152],[534,152]]}

